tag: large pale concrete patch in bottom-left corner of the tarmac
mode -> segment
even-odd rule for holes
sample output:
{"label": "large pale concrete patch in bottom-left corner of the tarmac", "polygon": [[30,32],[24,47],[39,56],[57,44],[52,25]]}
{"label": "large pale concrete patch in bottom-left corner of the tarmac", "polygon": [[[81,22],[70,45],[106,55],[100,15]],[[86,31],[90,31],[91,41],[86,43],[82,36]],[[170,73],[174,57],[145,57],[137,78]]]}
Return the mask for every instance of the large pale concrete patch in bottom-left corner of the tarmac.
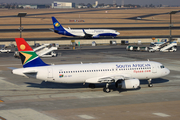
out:
{"label": "large pale concrete patch in bottom-left corner of the tarmac", "polygon": [[1,110],[1,117],[6,120],[55,120],[45,114],[39,113],[33,109],[14,109]]}

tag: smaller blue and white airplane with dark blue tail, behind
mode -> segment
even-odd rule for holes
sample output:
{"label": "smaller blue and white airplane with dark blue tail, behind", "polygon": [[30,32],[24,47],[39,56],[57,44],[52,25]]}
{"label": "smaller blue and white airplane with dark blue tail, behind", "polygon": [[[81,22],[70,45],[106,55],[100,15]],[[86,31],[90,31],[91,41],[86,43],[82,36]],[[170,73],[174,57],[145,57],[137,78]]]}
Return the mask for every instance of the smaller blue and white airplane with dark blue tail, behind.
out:
{"label": "smaller blue and white airplane with dark blue tail, behind", "polygon": [[112,29],[71,29],[71,28],[64,28],[62,25],[57,21],[55,17],[52,17],[53,25],[54,25],[54,32],[62,35],[67,36],[78,36],[84,38],[99,38],[101,36],[111,36],[116,37],[120,33],[116,30]]}

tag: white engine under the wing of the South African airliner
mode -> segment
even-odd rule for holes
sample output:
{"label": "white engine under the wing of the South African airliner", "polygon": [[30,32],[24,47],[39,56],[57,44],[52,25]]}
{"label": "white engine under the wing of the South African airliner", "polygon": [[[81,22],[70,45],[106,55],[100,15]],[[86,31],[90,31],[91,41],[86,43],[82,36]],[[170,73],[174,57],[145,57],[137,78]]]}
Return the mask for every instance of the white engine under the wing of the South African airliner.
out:
{"label": "white engine under the wing of the South African airliner", "polygon": [[139,85],[140,81],[138,79],[118,80],[116,82],[116,87],[122,89],[136,89]]}

